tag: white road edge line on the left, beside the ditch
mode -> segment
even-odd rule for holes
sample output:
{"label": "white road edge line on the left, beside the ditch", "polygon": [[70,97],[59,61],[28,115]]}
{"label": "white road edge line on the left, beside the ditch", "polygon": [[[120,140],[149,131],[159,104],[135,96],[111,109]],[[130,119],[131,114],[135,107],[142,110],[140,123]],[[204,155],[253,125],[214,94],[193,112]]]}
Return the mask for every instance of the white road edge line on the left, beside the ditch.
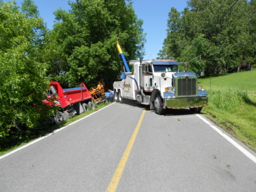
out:
{"label": "white road edge line on the left, beside the ditch", "polygon": [[[114,103],[111,103],[110,105],[113,105],[113,104],[114,104]],[[108,105],[108,106],[110,106],[110,105]],[[56,129],[56,130],[54,130],[53,132],[51,132],[50,134],[46,134],[46,135],[44,135],[44,136],[42,136],[42,137],[36,138],[36,140],[33,140],[33,142],[27,143],[27,144],[25,144],[25,145],[22,145],[22,146],[18,147],[18,148],[15,149],[15,150],[12,150],[12,151],[10,151],[10,152],[8,152],[8,153],[6,153],[6,154],[3,154],[2,156],[0,156],[0,159],[6,158],[6,157],[9,156],[10,154],[13,154],[13,153],[15,153],[15,152],[17,152],[17,151],[20,151],[20,150],[22,150],[23,148],[26,148],[27,146],[33,145],[34,143],[39,142],[40,140],[42,140],[42,139],[44,139],[44,138],[46,138],[46,137],[49,137],[50,135],[55,134],[55,133],[59,132],[59,131],[62,130],[62,129],[65,129],[66,127],[69,127],[69,126],[75,124],[76,122],[81,121],[82,119],[88,118],[89,116],[91,116],[91,115],[97,113],[98,111],[101,111],[101,110],[107,108],[108,106],[105,106],[104,108],[101,108],[100,110],[97,110],[97,111],[95,111],[94,113],[91,113],[91,114],[85,116],[84,118],[81,118],[81,119],[78,119],[78,120],[76,120],[76,121],[74,121],[74,122],[71,122],[70,124],[68,124],[68,125],[66,125],[66,126],[64,126],[64,127],[62,127],[62,128],[60,128],[60,129]]]}

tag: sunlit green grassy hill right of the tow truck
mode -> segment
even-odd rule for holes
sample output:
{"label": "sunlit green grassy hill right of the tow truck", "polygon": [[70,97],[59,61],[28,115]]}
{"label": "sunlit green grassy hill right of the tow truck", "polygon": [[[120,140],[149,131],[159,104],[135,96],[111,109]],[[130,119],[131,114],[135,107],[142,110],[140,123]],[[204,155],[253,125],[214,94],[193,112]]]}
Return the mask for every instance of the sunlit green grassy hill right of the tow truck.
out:
{"label": "sunlit green grassy hill right of the tow truck", "polygon": [[198,80],[209,94],[207,118],[256,151],[256,69]]}

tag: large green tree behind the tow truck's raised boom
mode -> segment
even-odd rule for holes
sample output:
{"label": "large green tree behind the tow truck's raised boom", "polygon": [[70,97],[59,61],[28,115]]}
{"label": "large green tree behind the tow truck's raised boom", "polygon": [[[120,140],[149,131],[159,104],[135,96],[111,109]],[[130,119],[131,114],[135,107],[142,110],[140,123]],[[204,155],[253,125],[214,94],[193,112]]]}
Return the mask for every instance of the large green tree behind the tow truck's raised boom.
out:
{"label": "large green tree behind the tow truck's raised boom", "polygon": [[111,86],[122,70],[116,41],[127,57],[143,54],[142,20],[131,3],[120,0],[69,2],[70,12],[55,11],[57,23],[49,34],[49,76],[65,86],[98,81]]}

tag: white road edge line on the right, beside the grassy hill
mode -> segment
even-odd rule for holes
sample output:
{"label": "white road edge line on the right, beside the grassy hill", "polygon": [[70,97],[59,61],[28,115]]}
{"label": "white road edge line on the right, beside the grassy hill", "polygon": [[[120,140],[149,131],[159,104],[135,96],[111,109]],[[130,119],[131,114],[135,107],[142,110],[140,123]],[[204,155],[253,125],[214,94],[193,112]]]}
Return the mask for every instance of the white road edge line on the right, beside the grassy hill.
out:
{"label": "white road edge line on the right, beside the grassy hill", "polygon": [[210,122],[207,121],[206,119],[202,118],[201,115],[196,114],[196,116],[198,116],[200,119],[202,119],[202,121],[206,122],[206,124],[208,126],[212,127],[212,129],[214,129],[216,132],[218,132],[218,134],[222,135],[222,137],[226,138],[226,140],[228,140],[228,142],[230,142],[232,145],[234,145],[236,148],[238,148],[239,151],[244,153],[247,156],[247,158],[249,158],[250,160],[252,160],[256,163],[256,157],[252,153],[250,153],[245,148],[243,148],[241,145],[236,143],[232,138],[228,137],[228,135],[226,135],[224,132],[222,132],[222,130],[220,130],[217,127],[215,127],[214,125],[210,124]]}

